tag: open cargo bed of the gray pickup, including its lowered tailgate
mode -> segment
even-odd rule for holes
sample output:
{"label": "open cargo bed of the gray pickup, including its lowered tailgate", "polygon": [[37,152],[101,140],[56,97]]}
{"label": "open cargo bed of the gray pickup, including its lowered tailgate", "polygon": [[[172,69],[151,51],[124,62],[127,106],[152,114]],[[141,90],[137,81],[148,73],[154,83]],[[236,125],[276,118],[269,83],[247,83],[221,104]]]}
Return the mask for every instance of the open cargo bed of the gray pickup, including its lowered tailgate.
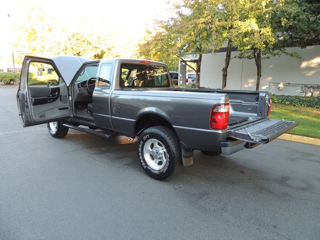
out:
{"label": "open cargo bed of the gray pickup, including its lowered tailgate", "polygon": [[[183,89],[184,90],[184,89]],[[229,96],[227,136],[234,139],[267,143],[298,125],[298,122],[269,119],[269,93],[221,89],[186,89],[185,91],[225,93]]]}

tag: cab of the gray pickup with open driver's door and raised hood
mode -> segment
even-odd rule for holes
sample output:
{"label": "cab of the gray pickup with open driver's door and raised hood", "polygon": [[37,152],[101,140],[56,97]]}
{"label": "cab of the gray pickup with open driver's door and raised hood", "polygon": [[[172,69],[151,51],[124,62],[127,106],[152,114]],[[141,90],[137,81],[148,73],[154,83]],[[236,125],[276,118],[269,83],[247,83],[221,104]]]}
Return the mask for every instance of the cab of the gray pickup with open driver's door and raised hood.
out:
{"label": "cab of the gray pickup with open driver's door and raised hood", "polygon": [[122,114],[116,100],[110,104],[113,90],[171,88],[166,65],[147,60],[25,56],[23,62],[17,92],[23,126],[70,118],[113,131],[110,110]]}

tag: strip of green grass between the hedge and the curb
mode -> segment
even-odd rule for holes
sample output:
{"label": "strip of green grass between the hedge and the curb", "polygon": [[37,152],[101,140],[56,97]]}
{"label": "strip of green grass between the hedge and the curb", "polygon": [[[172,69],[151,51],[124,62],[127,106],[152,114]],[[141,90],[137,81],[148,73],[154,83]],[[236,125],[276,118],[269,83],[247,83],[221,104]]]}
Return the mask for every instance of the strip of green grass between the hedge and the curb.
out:
{"label": "strip of green grass between the hedge and the curb", "polygon": [[[272,103],[272,109],[284,120],[298,121],[299,125],[292,128],[287,133],[320,138],[320,109],[312,107],[296,107]],[[271,110],[269,117],[279,118]]]}

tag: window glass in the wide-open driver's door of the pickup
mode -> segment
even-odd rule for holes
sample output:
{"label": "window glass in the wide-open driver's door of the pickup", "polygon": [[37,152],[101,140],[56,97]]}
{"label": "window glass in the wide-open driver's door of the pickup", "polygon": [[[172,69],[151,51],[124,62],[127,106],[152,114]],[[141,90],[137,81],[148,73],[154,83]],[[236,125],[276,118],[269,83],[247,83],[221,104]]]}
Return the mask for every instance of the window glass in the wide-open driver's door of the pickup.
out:
{"label": "window glass in the wide-open driver's door of the pickup", "polygon": [[59,84],[59,76],[53,66],[45,62],[30,62],[28,69],[29,86],[55,86]]}

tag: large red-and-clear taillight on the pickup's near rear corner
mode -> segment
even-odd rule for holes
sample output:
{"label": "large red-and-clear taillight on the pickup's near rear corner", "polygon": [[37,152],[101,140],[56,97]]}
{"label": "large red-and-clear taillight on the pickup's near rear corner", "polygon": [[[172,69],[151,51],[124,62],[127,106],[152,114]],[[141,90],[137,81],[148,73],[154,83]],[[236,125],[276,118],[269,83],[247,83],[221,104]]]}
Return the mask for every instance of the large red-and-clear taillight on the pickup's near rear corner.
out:
{"label": "large red-and-clear taillight on the pickup's near rear corner", "polygon": [[211,129],[225,129],[229,120],[229,103],[214,105],[210,114]]}

